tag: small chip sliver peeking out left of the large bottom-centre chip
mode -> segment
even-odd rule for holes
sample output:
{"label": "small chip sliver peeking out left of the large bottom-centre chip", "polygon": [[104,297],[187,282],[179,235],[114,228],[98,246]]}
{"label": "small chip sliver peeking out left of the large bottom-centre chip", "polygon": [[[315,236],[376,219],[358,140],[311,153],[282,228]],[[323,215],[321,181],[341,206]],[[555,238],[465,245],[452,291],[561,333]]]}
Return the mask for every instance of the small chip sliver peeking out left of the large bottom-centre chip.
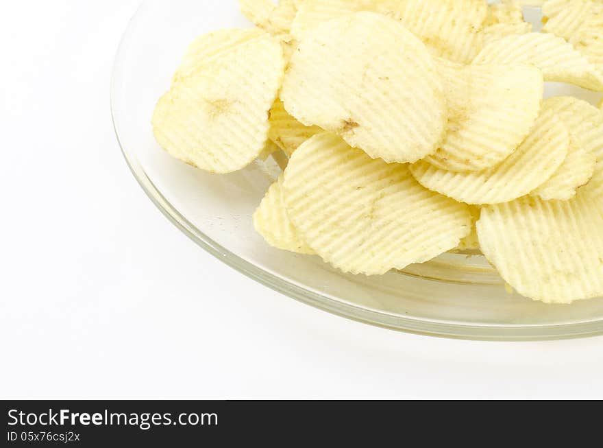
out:
{"label": "small chip sliver peeking out left of the large bottom-centre chip", "polygon": [[281,175],[269,188],[260,207],[254,213],[256,231],[270,246],[299,254],[313,255],[314,250],[299,235],[293,222],[289,220],[282,194]]}

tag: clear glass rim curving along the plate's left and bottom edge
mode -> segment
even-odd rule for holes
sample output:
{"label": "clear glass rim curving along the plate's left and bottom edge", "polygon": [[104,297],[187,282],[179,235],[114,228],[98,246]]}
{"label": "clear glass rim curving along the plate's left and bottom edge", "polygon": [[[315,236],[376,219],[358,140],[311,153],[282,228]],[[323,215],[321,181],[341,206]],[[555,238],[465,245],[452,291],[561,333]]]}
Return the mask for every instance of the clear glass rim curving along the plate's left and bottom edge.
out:
{"label": "clear glass rim curving along the plate's left and bottom edge", "polygon": [[[147,194],[151,202],[187,237],[201,246],[210,255],[216,257],[227,266],[241,272],[254,281],[270,287],[290,298],[298,300],[306,305],[328,311],[331,314],[363,322],[377,327],[431,335],[443,338],[469,339],[469,340],[498,340],[498,341],[528,341],[528,340],[556,340],[568,338],[584,338],[603,334],[603,320],[591,320],[584,322],[572,322],[563,325],[476,325],[458,322],[446,322],[429,320],[425,318],[402,317],[367,308],[358,307],[340,300],[317,294],[304,287],[295,285],[281,279],[270,272],[249,263],[245,259],[230,252],[227,248],[217,244],[210,237],[199,231],[194,224],[189,222],[170,202],[164,198],[153,181],[147,176],[143,166],[138,162],[134,154],[128,152],[120,137],[119,123],[116,117],[116,79],[120,69],[120,60],[125,49],[127,38],[132,30],[132,24],[145,1],[140,3],[136,12],[121,38],[119,48],[112,67],[110,81],[110,108],[114,132],[117,142],[127,166],[136,178],[136,181]],[[526,299],[527,300],[527,299]]]}

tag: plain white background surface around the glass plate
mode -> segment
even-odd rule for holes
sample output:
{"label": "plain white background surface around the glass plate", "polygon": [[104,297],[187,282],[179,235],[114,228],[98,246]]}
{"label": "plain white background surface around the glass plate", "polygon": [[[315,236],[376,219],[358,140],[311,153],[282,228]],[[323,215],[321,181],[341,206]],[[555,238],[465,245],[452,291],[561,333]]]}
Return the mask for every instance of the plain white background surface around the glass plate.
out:
{"label": "plain white background surface around the glass plate", "polygon": [[112,58],[137,3],[3,2],[0,397],[603,398],[603,338],[373,328],[189,241],[112,130]]}

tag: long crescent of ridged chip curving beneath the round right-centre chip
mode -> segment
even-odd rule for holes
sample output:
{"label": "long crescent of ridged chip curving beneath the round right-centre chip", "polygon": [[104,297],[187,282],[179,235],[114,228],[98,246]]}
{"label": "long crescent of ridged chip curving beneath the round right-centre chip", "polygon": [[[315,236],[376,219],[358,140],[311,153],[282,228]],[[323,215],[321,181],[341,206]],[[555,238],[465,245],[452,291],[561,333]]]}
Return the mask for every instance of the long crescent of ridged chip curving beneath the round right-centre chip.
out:
{"label": "long crescent of ridged chip curving beneath the round right-centre chip", "polygon": [[519,149],[504,162],[482,172],[454,173],[425,161],[410,172],[432,191],[467,204],[499,204],[525,196],[549,180],[569,150],[569,133],[545,110]]}

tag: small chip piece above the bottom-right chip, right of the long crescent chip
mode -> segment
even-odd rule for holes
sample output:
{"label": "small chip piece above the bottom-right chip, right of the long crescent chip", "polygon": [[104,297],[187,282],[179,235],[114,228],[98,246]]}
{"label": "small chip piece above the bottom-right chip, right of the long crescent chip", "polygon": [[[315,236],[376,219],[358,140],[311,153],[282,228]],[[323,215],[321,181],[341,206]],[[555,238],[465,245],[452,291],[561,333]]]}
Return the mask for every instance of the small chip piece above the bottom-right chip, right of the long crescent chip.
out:
{"label": "small chip piece above the bottom-right chip, right of the long crescent chip", "polygon": [[569,200],[576,196],[578,188],[587,185],[595,173],[597,158],[584,151],[570,139],[569,153],[552,178],[532,191],[532,196],[543,200]]}

